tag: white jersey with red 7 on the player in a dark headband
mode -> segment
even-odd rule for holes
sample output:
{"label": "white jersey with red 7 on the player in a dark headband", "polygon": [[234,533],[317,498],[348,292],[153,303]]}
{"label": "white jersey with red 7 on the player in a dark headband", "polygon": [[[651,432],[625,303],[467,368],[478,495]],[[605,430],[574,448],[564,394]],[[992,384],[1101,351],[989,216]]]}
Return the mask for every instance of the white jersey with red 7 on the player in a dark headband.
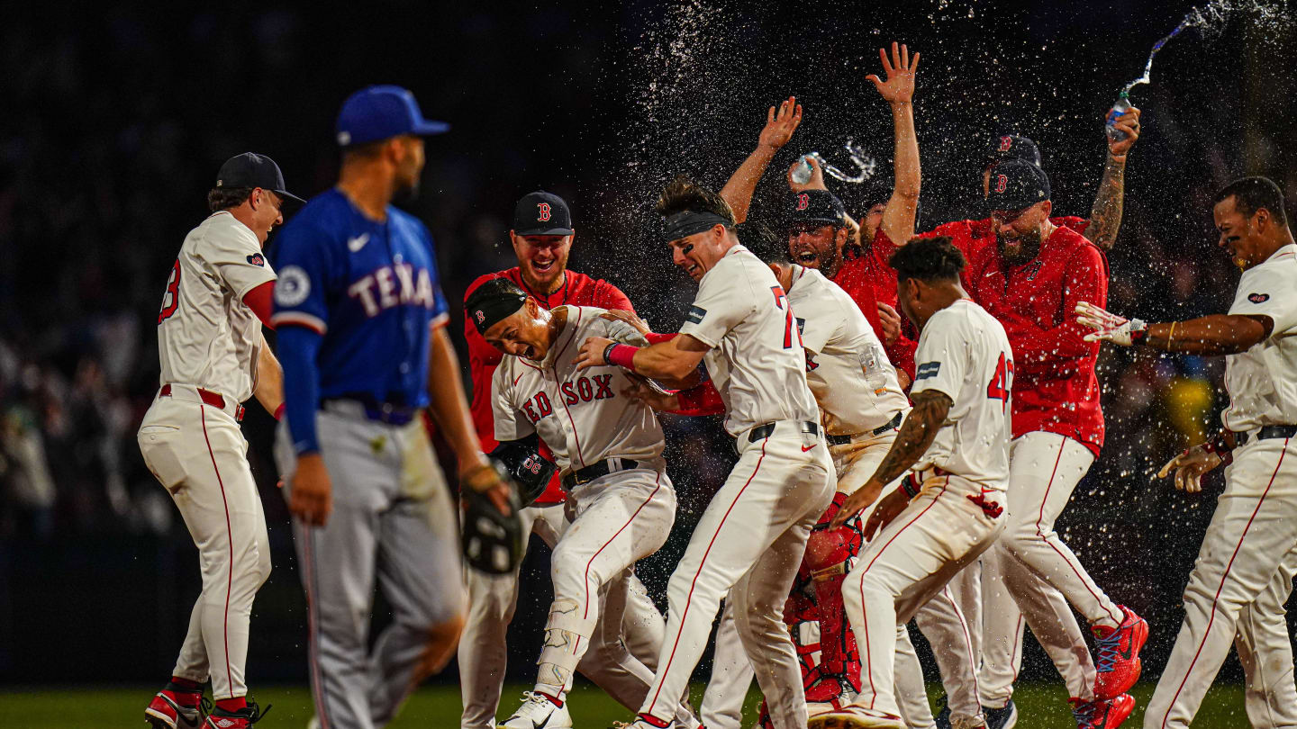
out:
{"label": "white jersey with red 7 on the player in a dark headband", "polygon": [[703,362],[725,403],[729,435],[778,420],[820,420],[787,296],[747,248],[734,245],[703,274],[680,333],[712,348]]}

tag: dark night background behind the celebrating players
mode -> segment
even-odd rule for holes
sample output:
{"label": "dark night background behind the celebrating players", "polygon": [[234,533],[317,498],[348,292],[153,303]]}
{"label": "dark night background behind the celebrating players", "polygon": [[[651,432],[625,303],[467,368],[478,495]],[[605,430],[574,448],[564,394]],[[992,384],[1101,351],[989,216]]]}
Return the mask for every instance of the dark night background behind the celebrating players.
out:
{"label": "dark night background behind the celebrating players", "polygon": [[[422,196],[407,208],[437,240],[460,346],[463,288],[512,265],[512,205],[538,187],[572,205],[571,267],[610,279],[656,329],[674,331],[694,287],[669,266],[651,202],[681,171],[720,187],[756,144],[767,106],[796,95],[805,119],[759,187],[754,217],[778,209],[796,153],[818,149],[846,167],[842,144],[853,137],[890,171],[890,115],[864,77],[881,73],[877,48],[892,39],[923,54],[921,227],[982,217],[981,156],[1004,131],[1040,144],[1054,209],[1087,215],[1102,115],[1185,1],[6,8],[0,682],[160,681],[174,663],[198,592],[196,550],[134,433],[158,384],[167,272],[227,157],[270,154],[291,191],[315,195],[336,174],[342,99],[371,83],[406,86],[425,115],[453,125],[429,139]],[[1158,320],[1228,306],[1237,272],[1215,249],[1210,196],[1265,174],[1294,213],[1294,52],[1292,25],[1241,12],[1158,56],[1153,84],[1132,93],[1144,130],[1127,167],[1110,309]],[[857,202],[859,188],[837,189]],[[1153,627],[1149,678],[1179,627],[1179,593],[1220,489],[1214,476],[1185,496],[1149,476],[1217,427],[1220,372],[1218,361],[1105,348],[1108,445],[1060,523],[1097,581]],[[303,599],[271,420],[249,412],[275,547],[254,606],[249,682],[302,681]],[[668,427],[678,525],[639,566],[659,599],[730,463],[716,420]],[[532,671],[546,569],[547,550],[533,549],[510,634],[515,677]],[[1057,681],[1034,643],[1025,676]],[[453,678],[454,668],[437,680]]]}

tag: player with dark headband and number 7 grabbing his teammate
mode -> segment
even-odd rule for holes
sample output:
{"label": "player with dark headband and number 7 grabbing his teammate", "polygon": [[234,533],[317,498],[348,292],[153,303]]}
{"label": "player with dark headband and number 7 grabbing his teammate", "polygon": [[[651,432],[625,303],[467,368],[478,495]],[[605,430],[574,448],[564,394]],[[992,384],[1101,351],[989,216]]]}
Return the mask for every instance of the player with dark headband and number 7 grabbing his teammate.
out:
{"label": "player with dark headband and number 7 grabbing his teammate", "polygon": [[617,364],[681,380],[706,359],[726,406],[739,460],[694,529],[667,589],[669,619],[654,685],[636,729],[667,726],[702,656],[722,595],[778,729],[804,726],[800,671],[779,606],[807,536],[833,497],[831,462],[807,387],[805,354],[787,296],[734,235],[716,193],[677,179],[658,201],[677,266],[699,281],[678,336],[646,348],[590,337],[582,368]]}

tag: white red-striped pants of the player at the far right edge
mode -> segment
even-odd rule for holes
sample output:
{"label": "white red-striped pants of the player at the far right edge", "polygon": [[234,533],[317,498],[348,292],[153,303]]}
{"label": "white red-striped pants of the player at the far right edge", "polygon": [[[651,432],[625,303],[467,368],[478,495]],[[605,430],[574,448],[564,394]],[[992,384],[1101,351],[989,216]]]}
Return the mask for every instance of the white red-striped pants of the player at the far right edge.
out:
{"label": "white red-striped pants of the player at the far right edge", "polygon": [[1297,567],[1297,441],[1233,451],[1226,488],[1184,588],[1184,623],[1144,712],[1144,726],[1188,726],[1230,645],[1239,647],[1253,726],[1297,726],[1283,606]]}

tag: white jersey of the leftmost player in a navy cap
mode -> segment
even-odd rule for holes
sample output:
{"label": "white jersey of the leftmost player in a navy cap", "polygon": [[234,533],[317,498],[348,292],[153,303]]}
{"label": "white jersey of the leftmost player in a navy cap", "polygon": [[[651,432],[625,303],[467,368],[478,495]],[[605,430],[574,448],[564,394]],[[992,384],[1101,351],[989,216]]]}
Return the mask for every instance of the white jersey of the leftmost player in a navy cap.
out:
{"label": "white jersey of the leftmost player in a navy cap", "polygon": [[160,383],[197,385],[239,402],[252,397],[261,320],[243,297],[272,280],[257,233],[228,211],[189,231],[158,313]]}

